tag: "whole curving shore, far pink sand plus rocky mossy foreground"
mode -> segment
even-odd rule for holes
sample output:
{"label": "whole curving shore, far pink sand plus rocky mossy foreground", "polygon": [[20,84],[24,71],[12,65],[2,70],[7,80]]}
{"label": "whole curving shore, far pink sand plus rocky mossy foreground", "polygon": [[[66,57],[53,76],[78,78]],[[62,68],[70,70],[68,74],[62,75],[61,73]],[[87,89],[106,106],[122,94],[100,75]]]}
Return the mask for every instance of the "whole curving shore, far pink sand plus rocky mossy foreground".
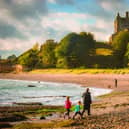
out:
{"label": "whole curving shore, far pink sand plus rocky mossy foreground", "polygon": [[[99,97],[92,104],[92,115],[80,120],[63,118],[63,106],[44,106],[40,103],[15,103],[0,107],[0,128],[13,129],[128,129],[129,127],[129,75],[40,75],[0,74],[2,79],[20,79],[77,83],[82,86],[111,88],[113,92]],[[118,87],[114,87],[114,78]],[[108,86],[111,87],[108,87]],[[73,111],[71,112],[71,116]],[[48,119],[47,119],[48,118]]]}

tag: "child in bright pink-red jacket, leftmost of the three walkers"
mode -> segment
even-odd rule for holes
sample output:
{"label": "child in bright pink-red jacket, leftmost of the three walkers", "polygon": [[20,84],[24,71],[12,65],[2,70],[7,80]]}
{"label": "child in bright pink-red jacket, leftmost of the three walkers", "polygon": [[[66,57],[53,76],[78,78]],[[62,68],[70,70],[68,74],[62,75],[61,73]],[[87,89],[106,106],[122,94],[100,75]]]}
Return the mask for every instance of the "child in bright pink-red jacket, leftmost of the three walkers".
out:
{"label": "child in bright pink-red jacket, leftmost of the three walkers", "polygon": [[69,114],[70,114],[70,108],[71,108],[71,101],[70,101],[70,98],[69,96],[66,97],[66,101],[65,101],[65,109],[66,109],[66,113],[64,114],[64,119],[66,117],[66,115],[68,116],[68,118],[70,118]]}

